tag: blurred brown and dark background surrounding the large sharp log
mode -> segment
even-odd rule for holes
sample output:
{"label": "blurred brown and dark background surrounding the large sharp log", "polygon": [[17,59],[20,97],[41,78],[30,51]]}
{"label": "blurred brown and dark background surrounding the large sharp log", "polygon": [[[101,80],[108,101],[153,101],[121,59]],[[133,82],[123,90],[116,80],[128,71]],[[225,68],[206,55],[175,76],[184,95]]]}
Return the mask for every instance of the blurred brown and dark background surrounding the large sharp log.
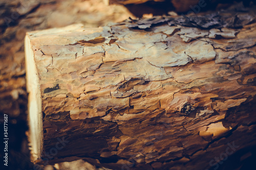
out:
{"label": "blurred brown and dark background surrounding the large sharp log", "polygon": [[[140,3],[143,2],[143,3]],[[3,142],[1,142],[0,169],[33,169],[29,143],[26,136],[27,99],[24,56],[26,32],[83,23],[85,27],[106,26],[129,17],[187,14],[229,8],[232,4],[249,7],[251,1],[205,0],[199,11],[198,0],[0,0],[0,127],[3,137],[4,114],[8,115],[8,168],[3,166]],[[2,133],[3,132],[3,133]],[[2,139],[1,139],[2,141]],[[234,155],[235,157],[236,155]],[[248,164],[253,157],[245,158]],[[232,164],[232,157],[219,169]],[[3,166],[3,168],[2,168]],[[239,166],[238,166],[239,167]],[[82,160],[63,162],[55,166],[37,166],[34,169],[107,169],[96,167]]]}

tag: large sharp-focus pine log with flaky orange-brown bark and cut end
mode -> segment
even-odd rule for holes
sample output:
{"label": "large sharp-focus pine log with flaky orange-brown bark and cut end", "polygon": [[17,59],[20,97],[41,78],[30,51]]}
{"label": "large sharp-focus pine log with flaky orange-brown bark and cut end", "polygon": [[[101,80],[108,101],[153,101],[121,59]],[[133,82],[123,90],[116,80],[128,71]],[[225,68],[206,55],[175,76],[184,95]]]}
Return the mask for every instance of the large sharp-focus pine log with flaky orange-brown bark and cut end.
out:
{"label": "large sharp-focus pine log with flaky orange-brown bark and cut end", "polygon": [[27,33],[33,161],[203,169],[230,144],[247,152],[256,139],[254,11]]}

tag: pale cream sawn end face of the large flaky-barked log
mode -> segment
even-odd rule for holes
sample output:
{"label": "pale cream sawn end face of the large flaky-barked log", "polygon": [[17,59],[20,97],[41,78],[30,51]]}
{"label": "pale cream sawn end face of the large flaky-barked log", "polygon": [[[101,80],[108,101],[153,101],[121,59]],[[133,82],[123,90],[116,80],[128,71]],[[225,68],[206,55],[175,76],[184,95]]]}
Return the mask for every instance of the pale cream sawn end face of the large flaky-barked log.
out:
{"label": "pale cream sawn end face of the large flaky-barked log", "polygon": [[41,113],[41,94],[39,90],[39,79],[35,64],[33,50],[31,48],[28,35],[25,37],[25,56],[26,56],[26,77],[28,98],[28,119],[29,119],[29,140],[31,144],[31,157],[36,160],[41,154],[42,145],[42,113]]}

